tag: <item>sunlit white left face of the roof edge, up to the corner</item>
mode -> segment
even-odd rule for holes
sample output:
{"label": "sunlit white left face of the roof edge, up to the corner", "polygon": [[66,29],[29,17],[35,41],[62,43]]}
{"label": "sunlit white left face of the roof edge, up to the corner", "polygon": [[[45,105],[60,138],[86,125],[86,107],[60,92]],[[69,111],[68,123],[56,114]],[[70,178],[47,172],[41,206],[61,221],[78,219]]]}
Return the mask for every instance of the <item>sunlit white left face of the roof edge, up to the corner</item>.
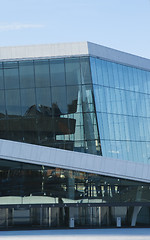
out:
{"label": "sunlit white left face of the roof edge, up to the corner", "polygon": [[0,60],[87,55],[87,42],[0,47]]}

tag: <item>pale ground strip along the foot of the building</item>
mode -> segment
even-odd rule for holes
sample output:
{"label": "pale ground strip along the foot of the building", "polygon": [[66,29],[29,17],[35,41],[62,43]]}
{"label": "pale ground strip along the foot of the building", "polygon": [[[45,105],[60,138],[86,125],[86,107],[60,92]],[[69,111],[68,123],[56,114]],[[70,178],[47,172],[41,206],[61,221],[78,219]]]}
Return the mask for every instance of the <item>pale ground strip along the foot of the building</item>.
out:
{"label": "pale ground strip along the foot of the building", "polygon": [[150,228],[0,231],[3,240],[150,240]]}

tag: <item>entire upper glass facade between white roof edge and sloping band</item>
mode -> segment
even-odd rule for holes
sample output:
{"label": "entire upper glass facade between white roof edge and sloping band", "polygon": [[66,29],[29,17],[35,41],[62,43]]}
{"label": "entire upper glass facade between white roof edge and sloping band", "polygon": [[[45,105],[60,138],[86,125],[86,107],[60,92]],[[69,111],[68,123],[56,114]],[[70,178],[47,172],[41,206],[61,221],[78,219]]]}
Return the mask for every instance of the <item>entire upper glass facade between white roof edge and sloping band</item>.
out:
{"label": "entire upper glass facade between white roof edge and sloping band", "polygon": [[0,63],[0,138],[150,161],[150,72],[93,57]]}

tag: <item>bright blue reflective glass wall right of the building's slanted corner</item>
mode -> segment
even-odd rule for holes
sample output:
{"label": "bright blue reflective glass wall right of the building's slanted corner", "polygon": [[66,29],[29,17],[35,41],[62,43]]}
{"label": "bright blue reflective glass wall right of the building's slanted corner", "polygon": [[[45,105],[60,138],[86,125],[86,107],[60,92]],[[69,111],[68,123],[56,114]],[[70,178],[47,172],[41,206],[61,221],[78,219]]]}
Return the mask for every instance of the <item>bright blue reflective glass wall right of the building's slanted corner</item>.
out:
{"label": "bright blue reflective glass wall right of the building's slanted corner", "polygon": [[150,72],[90,62],[102,155],[150,163]]}

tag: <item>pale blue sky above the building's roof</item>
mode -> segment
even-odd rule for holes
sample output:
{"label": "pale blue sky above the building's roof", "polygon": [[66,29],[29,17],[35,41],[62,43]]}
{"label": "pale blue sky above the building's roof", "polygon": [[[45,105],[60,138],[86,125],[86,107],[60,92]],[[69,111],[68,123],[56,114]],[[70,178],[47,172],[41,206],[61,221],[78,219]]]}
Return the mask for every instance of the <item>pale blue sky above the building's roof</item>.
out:
{"label": "pale blue sky above the building's roof", "polygon": [[150,0],[0,0],[0,46],[91,41],[150,58]]}

